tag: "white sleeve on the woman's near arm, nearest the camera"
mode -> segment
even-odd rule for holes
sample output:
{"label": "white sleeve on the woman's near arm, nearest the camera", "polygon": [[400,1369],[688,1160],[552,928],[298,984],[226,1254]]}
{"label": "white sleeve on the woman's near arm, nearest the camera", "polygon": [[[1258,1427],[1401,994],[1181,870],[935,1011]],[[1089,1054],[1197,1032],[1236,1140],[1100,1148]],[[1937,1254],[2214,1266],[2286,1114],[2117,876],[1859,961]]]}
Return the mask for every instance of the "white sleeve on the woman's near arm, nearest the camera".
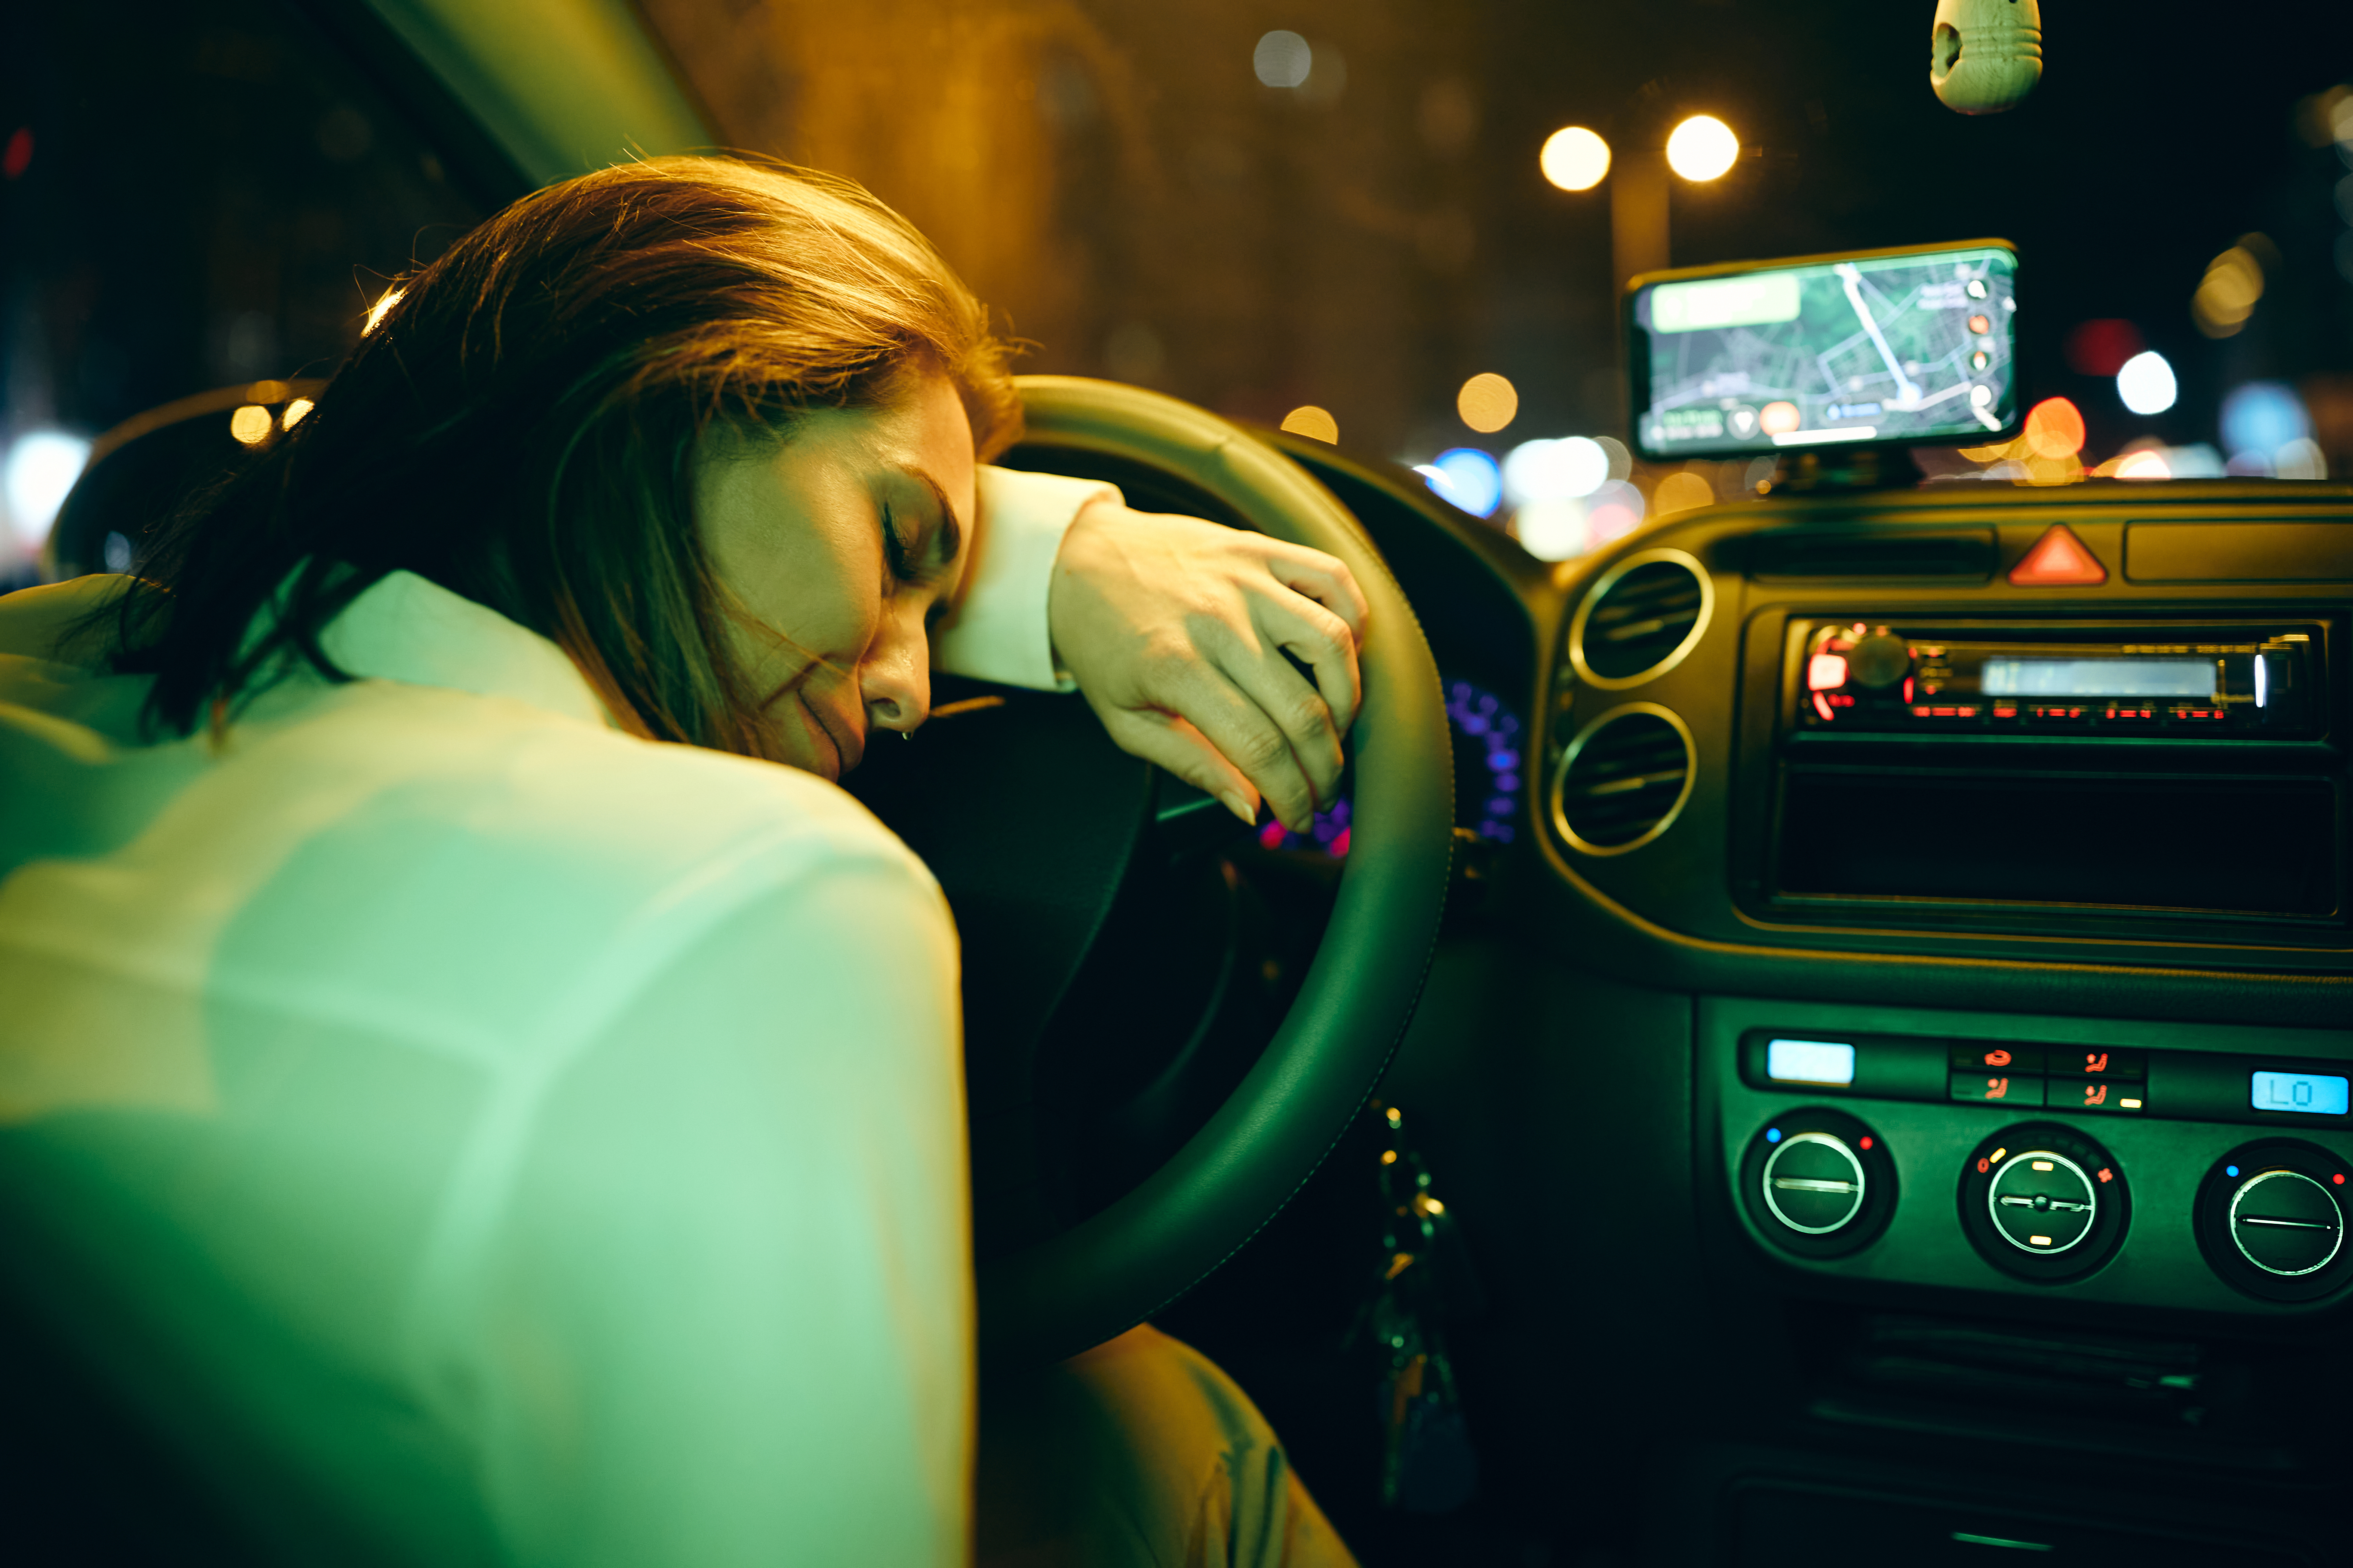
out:
{"label": "white sleeve on the woman's near arm, nearest the camera", "polygon": [[920,870],[826,863],[548,1086],[475,1352],[511,1561],[967,1561],[955,973]]}

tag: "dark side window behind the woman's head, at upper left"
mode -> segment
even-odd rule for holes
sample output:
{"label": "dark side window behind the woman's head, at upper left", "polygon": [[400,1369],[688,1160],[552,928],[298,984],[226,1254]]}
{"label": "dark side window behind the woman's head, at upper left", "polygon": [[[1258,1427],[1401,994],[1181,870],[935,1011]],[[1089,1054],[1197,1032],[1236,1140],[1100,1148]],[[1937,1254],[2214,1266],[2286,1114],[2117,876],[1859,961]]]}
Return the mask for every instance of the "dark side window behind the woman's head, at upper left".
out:
{"label": "dark side window behind the woman's head, at upper left", "polygon": [[5,585],[94,440],[327,376],[386,282],[482,216],[348,52],[268,2],[19,9],[0,176]]}

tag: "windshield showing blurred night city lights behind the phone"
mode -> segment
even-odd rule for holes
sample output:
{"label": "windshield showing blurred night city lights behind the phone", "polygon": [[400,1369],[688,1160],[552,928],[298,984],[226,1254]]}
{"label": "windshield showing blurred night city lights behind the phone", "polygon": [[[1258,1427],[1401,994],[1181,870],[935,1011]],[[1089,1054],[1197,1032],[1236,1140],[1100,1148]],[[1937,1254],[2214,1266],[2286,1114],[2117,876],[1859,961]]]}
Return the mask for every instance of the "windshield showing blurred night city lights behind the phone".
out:
{"label": "windshield showing blurred night city lights behind the phone", "polygon": [[[1035,341],[1031,369],[1292,416],[1367,456],[1452,449],[1454,498],[1494,522],[1525,487],[1492,458],[1527,440],[1602,437],[1595,534],[1751,494],[1753,461],[1614,444],[1628,270],[1977,237],[2019,244],[2024,390],[2085,433],[2042,468],[1922,454],[1932,475],[2049,482],[2137,449],[2162,458],[2134,473],[2181,477],[2353,468],[2344,7],[2186,47],[2068,5],[2038,92],[1974,118],[1929,92],[1929,9],[645,5],[729,141],[904,207]],[[1737,143],[1704,181],[1661,167],[1694,115]],[[1614,153],[1584,190],[1539,167],[1567,127]],[[2118,381],[2144,353],[2169,400],[2155,362]],[[1567,456],[1522,475],[1558,487],[1595,454]]]}

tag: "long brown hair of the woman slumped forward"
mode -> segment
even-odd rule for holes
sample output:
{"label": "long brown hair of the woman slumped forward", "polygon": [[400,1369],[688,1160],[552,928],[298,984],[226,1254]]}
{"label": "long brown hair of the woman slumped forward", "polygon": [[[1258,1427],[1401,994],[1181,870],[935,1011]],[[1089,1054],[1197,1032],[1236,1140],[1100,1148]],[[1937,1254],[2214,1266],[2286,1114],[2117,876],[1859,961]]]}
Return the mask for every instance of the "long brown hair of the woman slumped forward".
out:
{"label": "long brown hair of the woman slumped forward", "polygon": [[287,658],[348,679],[320,632],[407,569],[553,639],[628,729],[769,755],[694,527],[696,442],[788,440],[944,371],[991,456],[1021,428],[1005,357],[849,181],[652,158],[551,186],[405,280],[318,407],[165,531],[115,668],[155,675],[174,733]]}

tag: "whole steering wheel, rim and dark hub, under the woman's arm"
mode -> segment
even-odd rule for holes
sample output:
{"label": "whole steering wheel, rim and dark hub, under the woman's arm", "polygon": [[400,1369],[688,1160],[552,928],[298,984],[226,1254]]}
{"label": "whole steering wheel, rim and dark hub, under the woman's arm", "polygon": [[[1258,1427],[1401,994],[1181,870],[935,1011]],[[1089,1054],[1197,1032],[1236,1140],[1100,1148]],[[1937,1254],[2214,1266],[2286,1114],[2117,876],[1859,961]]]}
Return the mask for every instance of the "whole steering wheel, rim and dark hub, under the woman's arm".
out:
{"label": "whole steering wheel, rim and dark hub, under the woman's arm", "polygon": [[[1313,1175],[1379,1084],[1421,997],[1454,837],[1438,665],[1355,517],[1271,444],[1174,397],[1024,376],[1021,402],[1028,435],[1007,461],[1111,468],[1129,480],[1132,498],[1165,491],[1158,501],[1169,510],[1224,512],[1337,555],[1372,614],[1365,698],[1351,731],[1351,842],[1306,978],[1207,1121],[1075,1225],[1005,1218],[1019,1204],[1005,1194],[1038,1185],[1035,1034],[1134,875],[1155,799],[1165,802],[1174,780],[1155,785],[1155,769],[1118,752],[1082,703],[1009,693],[979,701],[995,708],[988,722],[934,719],[906,748],[913,759],[929,752],[934,766],[899,795],[896,811],[859,788],[932,860],[965,933],[979,1326],[993,1361],[1071,1356],[1141,1324],[1249,1241]],[[913,823],[901,820],[908,802]],[[944,811],[953,818],[946,825]],[[1167,806],[1160,811],[1165,820]],[[1202,811],[1195,820],[1212,818]],[[1068,954],[1068,969],[1056,969],[1056,952]],[[1009,1009],[1019,1023],[1007,1023],[1000,1004],[1007,987],[1019,994]]]}

